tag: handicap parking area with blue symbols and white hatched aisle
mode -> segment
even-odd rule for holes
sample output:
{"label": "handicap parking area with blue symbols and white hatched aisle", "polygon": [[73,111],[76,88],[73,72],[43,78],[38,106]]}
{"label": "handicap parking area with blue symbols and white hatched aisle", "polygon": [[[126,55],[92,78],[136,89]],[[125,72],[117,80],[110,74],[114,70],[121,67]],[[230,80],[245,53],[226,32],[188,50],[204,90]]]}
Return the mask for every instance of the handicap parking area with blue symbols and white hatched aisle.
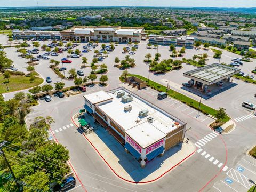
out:
{"label": "handicap parking area with blue symbols and white hatched aisle", "polygon": [[248,191],[256,181],[256,160],[244,156],[227,171],[225,177],[214,184],[217,191]]}

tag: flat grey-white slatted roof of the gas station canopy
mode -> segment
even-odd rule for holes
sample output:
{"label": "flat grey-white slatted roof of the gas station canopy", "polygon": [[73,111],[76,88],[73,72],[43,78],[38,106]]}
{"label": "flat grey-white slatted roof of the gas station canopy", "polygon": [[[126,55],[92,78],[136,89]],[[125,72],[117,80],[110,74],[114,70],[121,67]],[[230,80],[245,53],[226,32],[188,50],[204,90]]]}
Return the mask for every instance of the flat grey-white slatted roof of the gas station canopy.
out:
{"label": "flat grey-white slatted roof of the gas station canopy", "polygon": [[202,80],[207,85],[211,85],[231,75],[239,73],[240,69],[228,67],[218,63],[213,63],[205,67],[190,70],[183,73],[183,76],[189,78],[196,78],[197,81]]}

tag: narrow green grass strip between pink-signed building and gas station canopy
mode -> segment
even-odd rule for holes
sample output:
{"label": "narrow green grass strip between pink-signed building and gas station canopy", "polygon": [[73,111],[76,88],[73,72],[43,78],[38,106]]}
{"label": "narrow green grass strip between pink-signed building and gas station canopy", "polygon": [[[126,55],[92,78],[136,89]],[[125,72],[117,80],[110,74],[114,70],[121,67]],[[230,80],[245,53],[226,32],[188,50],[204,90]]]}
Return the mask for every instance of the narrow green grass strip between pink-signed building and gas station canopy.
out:
{"label": "narrow green grass strip between pink-signed building and gas station canopy", "polygon": [[[139,78],[139,79],[141,79],[143,81],[148,82],[147,78],[142,77],[140,75],[128,74],[127,76],[134,76],[134,77],[137,77],[137,78]],[[167,89],[166,86],[161,85],[161,84],[156,83],[156,82],[151,81],[151,80],[149,80],[149,86],[152,89],[155,89],[155,90],[160,91],[160,92],[166,92],[166,89]],[[186,95],[183,95],[183,94],[181,94],[181,93],[179,93],[177,91],[174,91],[172,89],[169,89],[167,91],[167,94],[170,97],[175,98],[175,99],[181,101],[182,103],[186,103],[186,105],[188,105],[190,107],[193,107],[193,108],[198,110],[198,106],[199,106],[199,102],[198,101],[196,101],[194,99],[191,99],[191,98],[187,97]],[[202,113],[204,113],[206,115],[212,115],[212,116],[214,116],[217,113],[216,109],[213,109],[213,108],[211,108],[209,106],[206,106],[203,103],[201,103],[199,111],[201,111]],[[230,119],[230,117],[226,115],[226,117],[222,121],[226,123],[226,122],[229,121],[229,119]]]}

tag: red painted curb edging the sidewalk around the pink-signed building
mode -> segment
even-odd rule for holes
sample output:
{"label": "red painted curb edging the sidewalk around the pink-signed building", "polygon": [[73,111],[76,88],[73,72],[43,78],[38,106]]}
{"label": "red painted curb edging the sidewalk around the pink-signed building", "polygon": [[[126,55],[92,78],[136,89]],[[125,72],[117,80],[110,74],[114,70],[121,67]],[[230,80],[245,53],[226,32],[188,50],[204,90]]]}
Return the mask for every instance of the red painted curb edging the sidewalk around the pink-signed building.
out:
{"label": "red painted curb edging the sidewalk around the pink-signed building", "polygon": [[[76,108],[75,108],[76,109]],[[74,110],[74,109],[73,109]],[[72,112],[71,112],[71,120],[72,122],[77,126],[77,124],[74,122],[73,118],[72,118]],[[97,148],[95,148],[95,146],[92,144],[92,142],[86,137],[86,135],[83,133],[84,137],[86,138],[86,140],[91,144],[91,146],[95,149],[95,151],[97,151],[97,153],[100,155],[100,157],[103,159],[103,161],[108,165],[109,169],[111,171],[113,171],[115,173],[115,175],[124,180],[124,181],[127,181],[127,182],[130,182],[130,183],[135,183],[135,184],[145,184],[145,183],[150,183],[150,182],[154,182],[158,179],[160,179],[161,177],[163,177],[166,173],[168,173],[169,171],[171,171],[174,167],[176,167],[177,165],[179,165],[180,163],[182,163],[183,161],[185,161],[187,158],[189,158],[191,155],[193,155],[195,152],[196,152],[196,149],[193,151],[193,153],[191,153],[190,155],[188,155],[186,158],[182,159],[182,161],[180,161],[179,163],[177,163],[176,165],[174,165],[173,167],[171,167],[169,170],[167,170],[166,172],[164,172],[162,175],[160,175],[159,177],[157,177],[156,179],[153,179],[151,181],[145,181],[145,182],[135,182],[135,181],[130,181],[130,180],[127,180],[127,179],[124,179],[122,178],[120,175],[118,175],[114,170],[113,168],[108,164],[108,162],[106,161],[106,159],[100,154],[100,152],[97,150]]]}

